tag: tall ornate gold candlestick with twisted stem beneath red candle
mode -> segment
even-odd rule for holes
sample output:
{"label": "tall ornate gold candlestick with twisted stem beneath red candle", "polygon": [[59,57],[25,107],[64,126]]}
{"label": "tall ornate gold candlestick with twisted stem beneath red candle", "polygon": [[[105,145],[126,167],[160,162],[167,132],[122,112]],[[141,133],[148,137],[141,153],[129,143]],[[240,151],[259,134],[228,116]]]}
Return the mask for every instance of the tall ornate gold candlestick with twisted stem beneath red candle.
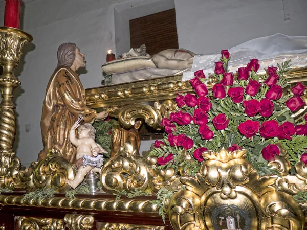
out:
{"label": "tall ornate gold candlestick with twisted stem beneath red candle", "polygon": [[14,71],[22,55],[21,49],[26,42],[32,41],[32,36],[22,30],[11,27],[0,27],[0,65],[3,73],[0,76],[0,187],[6,176],[13,176],[20,165],[20,160],[14,159],[12,150],[16,135],[15,105],[13,91],[20,85]]}

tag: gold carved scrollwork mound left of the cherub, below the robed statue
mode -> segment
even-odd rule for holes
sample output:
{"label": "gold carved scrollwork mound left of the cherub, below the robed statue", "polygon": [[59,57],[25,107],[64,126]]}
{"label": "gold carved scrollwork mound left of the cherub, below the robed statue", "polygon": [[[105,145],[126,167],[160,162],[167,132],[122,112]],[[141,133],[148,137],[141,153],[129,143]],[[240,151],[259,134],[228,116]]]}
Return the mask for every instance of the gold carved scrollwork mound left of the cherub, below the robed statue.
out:
{"label": "gold carved scrollwork mound left of the cherub, below the robed statue", "polygon": [[47,158],[36,166],[33,183],[37,189],[49,187],[57,192],[63,192],[69,189],[65,180],[73,180],[74,175],[75,169],[69,160],[63,158],[56,149],[52,149]]}

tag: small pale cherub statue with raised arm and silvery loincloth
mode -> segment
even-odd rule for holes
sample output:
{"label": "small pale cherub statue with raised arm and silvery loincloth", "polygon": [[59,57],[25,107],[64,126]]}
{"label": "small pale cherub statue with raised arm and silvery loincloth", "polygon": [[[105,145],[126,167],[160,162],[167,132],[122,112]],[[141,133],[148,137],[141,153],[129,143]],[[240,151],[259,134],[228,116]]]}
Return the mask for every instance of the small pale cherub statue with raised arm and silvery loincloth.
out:
{"label": "small pale cherub statue with raised arm and silvery loincloth", "polygon": [[[69,136],[71,143],[77,147],[76,166],[78,173],[73,180],[66,180],[68,185],[73,189],[83,181],[85,175],[91,170],[93,172],[100,172],[103,157],[98,153],[107,153],[107,151],[95,142],[95,128],[89,123],[80,126],[79,123],[82,119],[80,117],[72,126]],[[76,138],[76,128],[78,128],[78,138]]]}

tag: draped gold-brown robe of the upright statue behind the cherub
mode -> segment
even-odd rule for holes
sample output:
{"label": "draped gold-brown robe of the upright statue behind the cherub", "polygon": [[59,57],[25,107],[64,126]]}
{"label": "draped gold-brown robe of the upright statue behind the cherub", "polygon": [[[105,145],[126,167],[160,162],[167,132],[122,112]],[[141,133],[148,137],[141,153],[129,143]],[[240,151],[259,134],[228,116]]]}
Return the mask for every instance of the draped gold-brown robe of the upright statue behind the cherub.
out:
{"label": "draped gold-brown robe of the upright statue behind the cherub", "polygon": [[42,106],[40,127],[44,148],[38,160],[46,158],[48,150],[55,147],[64,158],[75,162],[76,147],[69,140],[69,132],[78,114],[82,114],[85,123],[94,122],[97,116],[94,109],[86,106],[79,76],[71,68],[59,66],[49,80]]}

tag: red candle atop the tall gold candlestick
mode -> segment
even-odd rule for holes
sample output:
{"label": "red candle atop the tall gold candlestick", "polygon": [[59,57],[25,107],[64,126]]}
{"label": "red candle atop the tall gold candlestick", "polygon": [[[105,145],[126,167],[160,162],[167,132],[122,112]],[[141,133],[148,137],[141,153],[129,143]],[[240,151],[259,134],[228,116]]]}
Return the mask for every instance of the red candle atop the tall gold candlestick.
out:
{"label": "red candle atop the tall gold candlestick", "polygon": [[19,29],[21,0],[5,0],[4,26]]}

